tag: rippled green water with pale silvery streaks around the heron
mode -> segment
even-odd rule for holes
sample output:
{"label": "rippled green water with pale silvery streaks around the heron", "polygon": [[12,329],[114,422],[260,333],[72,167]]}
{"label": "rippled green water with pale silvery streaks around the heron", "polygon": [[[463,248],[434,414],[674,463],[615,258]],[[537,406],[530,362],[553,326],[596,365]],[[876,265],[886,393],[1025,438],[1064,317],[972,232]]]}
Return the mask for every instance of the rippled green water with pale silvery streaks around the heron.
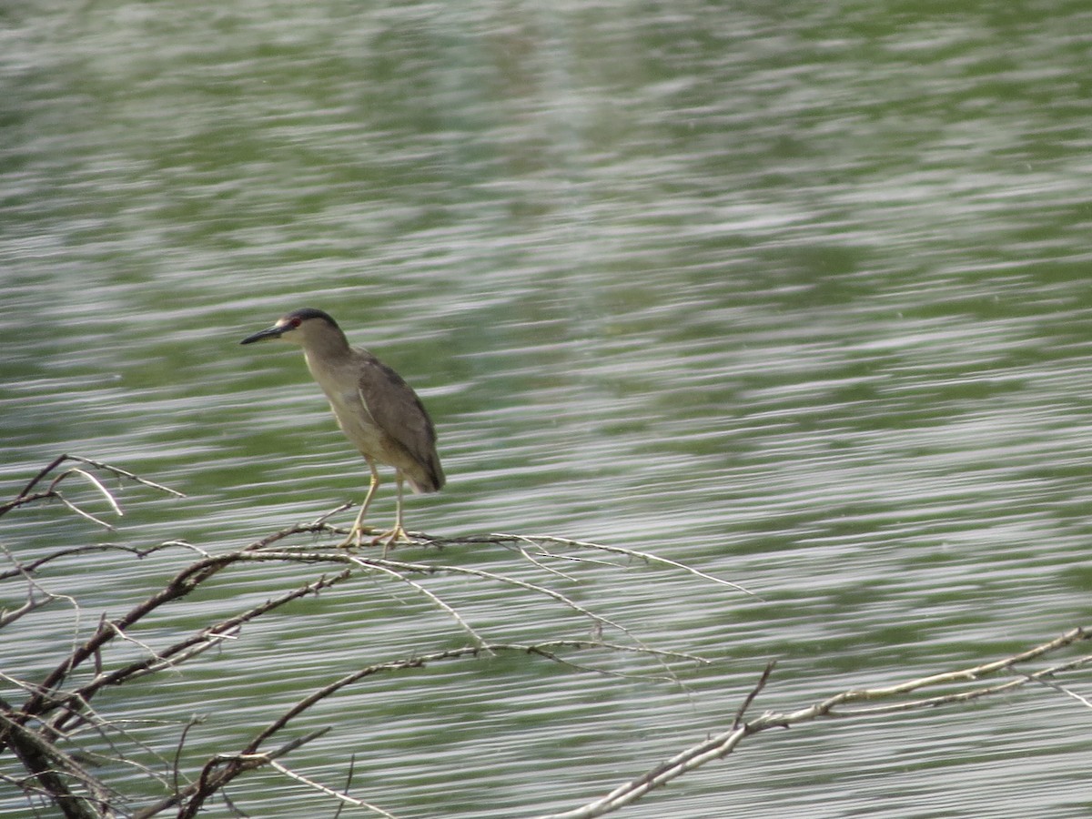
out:
{"label": "rippled green water with pale silvery streaks around the heron", "polygon": [[[770,656],[764,705],[794,707],[1083,616],[1080,5],[3,14],[7,486],[61,451],[108,460],[190,496],[132,496],[119,537],[212,550],[359,499],[298,354],[237,346],[310,305],[436,418],[450,484],[408,501],[415,526],[651,549],[762,597],[598,575],[650,642],[724,658],[693,697],[434,669],[316,715],[342,726],[299,757],[327,781],[352,748],[399,816],[567,807],[729,723]],[[72,583],[136,598],[169,570],[139,568]],[[320,600],[290,651],[247,634],[179,691],[259,714],[240,686],[434,644],[430,614],[382,595],[363,627],[368,594]],[[477,627],[519,614],[494,607]],[[340,640],[316,668],[320,632]],[[1072,815],[1069,705],[1012,704],[757,741],[628,814]],[[264,784],[250,809],[298,815]]]}

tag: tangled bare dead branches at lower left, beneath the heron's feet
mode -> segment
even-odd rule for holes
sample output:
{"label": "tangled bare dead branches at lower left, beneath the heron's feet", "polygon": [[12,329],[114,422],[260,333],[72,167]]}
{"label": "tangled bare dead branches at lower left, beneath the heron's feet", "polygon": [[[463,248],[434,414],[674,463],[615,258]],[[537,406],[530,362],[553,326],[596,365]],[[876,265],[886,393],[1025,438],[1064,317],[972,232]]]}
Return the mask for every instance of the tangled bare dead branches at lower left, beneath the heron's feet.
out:
{"label": "tangled bare dead branches at lower left, beneath the heron's feet", "polygon": [[[66,464],[69,462],[76,462],[81,466],[66,467]],[[66,454],[55,459],[35,475],[15,499],[0,506],[0,514],[32,503],[57,501],[61,507],[82,519],[88,520],[96,525],[109,527],[109,524],[100,517],[83,508],[82,501],[66,498],[60,494],[60,487],[69,482],[83,483],[94,494],[105,499],[111,513],[115,515],[123,513],[121,506],[104,483],[88,471],[88,468],[84,467],[100,470],[119,478],[134,482],[138,485],[178,495],[174,490],[167,489],[154,482],[145,480],[126,470],[120,470],[99,461]],[[340,509],[334,511],[340,511]],[[21,705],[7,702],[0,703],[0,752],[4,748],[13,751],[20,759],[24,770],[29,774],[29,778],[21,785],[27,797],[37,795],[39,799],[44,798],[57,804],[66,816],[79,817],[80,819],[84,819],[84,817],[112,816],[116,810],[120,809],[119,806],[124,804],[126,798],[121,794],[111,791],[105,782],[96,779],[94,773],[88,772],[85,767],[76,762],[79,753],[70,750],[75,745],[78,737],[88,731],[105,741],[111,749],[105,757],[97,752],[92,753],[92,757],[102,761],[126,765],[136,764],[139,770],[143,770],[147,776],[157,780],[167,788],[167,796],[141,808],[135,816],[151,817],[164,810],[171,809],[177,811],[178,816],[192,816],[201,809],[210,797],[217,794],[223,795],[224,787],[236,778],[248,771],[266,765],[275,767],[285,775],[289,775],[298,781],[305,781],[309,787],[330,795],[334,793],[331,788],[319,785],[319,783],[314,783],[313,781],[308,781],[306,778],[301,779],[276,762],[277,757],[284,756],[312,740],[321,735],[321,733],[324,733],[325,729],[322,732],[312,732],[301,738],[289,739],[275,749],[269,749],[266,746],[300,714],[309,711],[319,702],[336,696],[346,687],[359,684],[375,675],[400,673],[414,668],[423,668],[441,661],[458,661],[498,652],[520,652],[529,656],[546,660],[547,662],[558,663],[573,670],[628,677],[642,675],[618,674],[597,667],[594,663],[575,663],[566,656],[566,654],[589,650],[629,653],[648,656],[668,669],[669,666],[667,664],[674,662],[708,662],[692,654],[646,645],[636,638],[624,624],[617,622],[613,618],[589,606],[579,604],[567,594],[543,583],[483,569],[437,562],[387,560],[382,557],[369,558],[346,549],[323,550],[316,549],[310,545],[297,546],[289,543],[289,539],[294,536],[336,532],[337,530],[327,522],[331,514],[333,512],[320,515],[308,524],[284,527],[254,541],[242,549],[218,555],[210,554],[210,551],[176,541],[144,548],[114,544],[79,545],[71,548],[58,549],[46,556],[27,561],[21,561],[13,550],[4,550],[3,556],[7,557],[10,568],[0,572],[0,582],[21,581],[26,584],[27,592],[25,603],[0,615],[0,628],[11,625],[20,618],[33,615],[38,608],[56,601],[66,601],[72,606],[78,621],[83,619],[79,602],[75,598],[58,593],[39,581],[39,572],[46,566],[56,567],[102,551],[116,551],[119,555],[130,555],[138,559],[171,548],[189,549],[195,555],[195,559],[182,569],[177,570],[173,577],[165,581],[158,591],[131,606],[120,616],[112,618],[100,616],[90,636],[75,640],[71,650],[64,656],[59,657],[56,664],[51,666],[51,670],[43,674],[40,679],[19,679],[10,674],[0,674],[0,678],[8,680],[26,692],[25,702]],[[444,545],[440,538],[426,538],[423,535],[419,537],[422,545]],[[558,542],[558,544],[554,545],[561,544]],[[565,545],[567,548],[578,550],[590,548],[589,545],[577,542],[566,542]],[[539,549],[544,558],[548,556],[554,560],[581,560],[593,566],[617,568],[617,563],[605,560],[587,560],[572,555],[562,556],[557,549],[549,548],[546,541],[538,542],[534,538],[520,538],[519,548],[530,558],[531,563],[554,579],[562,581],[572,582],[573,579],[565,572],[546,566],[537,557],[532,557],[527,548],[529,546]],[[628,559],[634,557],[643,559],[646,557],[640,553],[630,553],[627,550],[616,550],[615,554]],[[203,583],[210,582],[232,567],[241,567],[251,562],[295,562],[317,567],[335,566],[340,567],[340,571],[301,583],[295,590],[283,593],[260,605],[249,607],[230,617],[221,619],[218,622],[209,625],[188,636],[176,638],[167,645],[156,645],[153,641],[141,636],[140,627],[145,625],[152,615],[159,612],[166,604],[185,598],[193,590]],[[681,567],[681,565],[674,562],[670,565]],[[536,644],[496,643],[490,641],[486,634],[478,631],[466,618],[460,610],[460,605],[456,602],[446,600],[436,591],[428,587],[426,583],[427,578],[444,574],[500,583],[522,593],[541,596],[589,620],[593,627],[592,633],[594,634],[594,639],[557,639]],[[257,620],[270,612],[281,608],[302,596],[319,594],[352,578],[364,575],[388,578],[403,584],[450,618],[460,630],[471,637],[473,644],[461,649],[449,649],[395,658],[387,663],[370,665],[333,680],[301,698],[295,705],[287,709],[264,728],[258,729],[246,747],[233,753],[216,755],[214,758],[204,761],[200,765],[200,774],[192,781],[188,780],[181,773],[183,764],[182,747],[189,727],[193,724],[192,721],[181,727],[175,759],[163,760],[159,757],[161,761],[166,762],[167,768],[174,771],[173,775],[163,776],[139,763],[130,763],[126,758],[127,755],[122,746],[124,744],[140,745],[140,743],[127,735],[123,727],[124,720],[114,719],[94,708],[94,701],[105,688],[123,686],[140,677],[177,668],[185,663],[200,657],[210,648],[223,646],[226,640],[238,637],[240,630],[247,624]],[[609,628],[624,634],[628,640],[632,641],[632,644],[603,641],[598,634],[604,628]],[[118,643],[126,643],[135,648],[142,656],[135,661],[129,660],[120,665],[116,665],[110,661],[112,656],[110,650],[112,645]],[[80,675],[79,681],[76,681],[76,675]],[[673,672],[669,672],[666,677],[656,677],[656,679],[665,678],[677,681]],[[149,748],[144,748],[144,750],[158,757],[156,752]],[[109,756],[111,753],[114,756]],[[388,816],[381,808],[364,800],[355,799],[355,797],[344,795],[344,797],[339,796],[339,798],[343,804],[353,804],[373,810],[379,815]],[[124,812],[128,814],[129,811],[126,810]]]}

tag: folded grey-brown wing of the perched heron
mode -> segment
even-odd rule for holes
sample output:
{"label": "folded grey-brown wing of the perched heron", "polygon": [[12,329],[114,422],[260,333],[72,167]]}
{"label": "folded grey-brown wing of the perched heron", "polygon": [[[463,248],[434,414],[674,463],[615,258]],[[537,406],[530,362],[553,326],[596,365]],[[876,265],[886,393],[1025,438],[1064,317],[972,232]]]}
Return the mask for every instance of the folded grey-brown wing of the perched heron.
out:
{"label": "folded grey-brown wing of the perched heron", "polygon": [[444,476],[436,453],[436,429],[425,405],[397,372],[370,353],[359,352],[365,356],[359,393],[368,414],[419,467],[403,470],[415,488],[437,491]]}

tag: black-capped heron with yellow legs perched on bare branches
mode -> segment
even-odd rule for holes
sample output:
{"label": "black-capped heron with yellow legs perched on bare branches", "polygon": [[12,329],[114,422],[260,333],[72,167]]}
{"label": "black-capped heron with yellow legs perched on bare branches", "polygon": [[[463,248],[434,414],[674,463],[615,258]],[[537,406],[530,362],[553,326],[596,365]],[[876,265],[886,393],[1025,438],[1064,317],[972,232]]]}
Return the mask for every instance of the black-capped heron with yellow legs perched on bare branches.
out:
{"label": "black-capped heron with yellow legs perched on bare branches", "polygon": [[[443,468],[436,453],[436,429],[417,393],[402,377],[371,353],[351,347],[345,333],[328,313],[305,307],[276,324],[242,340],[251,344],[281,339],[304,347],[307,368],[330,400],[337,425],[360,450],[371,470],[371,484],[353,529],[342,546],[361,545],[364,517],[379,487],[376,462],[394,467],[399,497],[394,529],[372,539],[390,546],[408,539],[402,525],[402,482],[415,492],[435,492],[443,486]],[[384,548],[385,554],[385,548]]]}

